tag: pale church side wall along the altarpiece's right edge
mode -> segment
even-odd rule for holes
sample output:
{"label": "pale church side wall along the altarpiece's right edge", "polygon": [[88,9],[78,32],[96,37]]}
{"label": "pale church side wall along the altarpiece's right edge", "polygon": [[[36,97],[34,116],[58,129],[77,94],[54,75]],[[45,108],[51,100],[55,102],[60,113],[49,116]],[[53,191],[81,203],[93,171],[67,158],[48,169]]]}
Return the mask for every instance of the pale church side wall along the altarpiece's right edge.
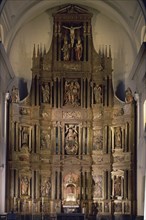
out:
{"label": "pale church side wall along the altarpiece's right edge", "polygon": [[[144,215],[144,191],[146,171],[146,43],[143,42],[135,60],[130,78],[135,82],[137,101],[137,214]],[[146,207],[145,207],[146,208]]]}

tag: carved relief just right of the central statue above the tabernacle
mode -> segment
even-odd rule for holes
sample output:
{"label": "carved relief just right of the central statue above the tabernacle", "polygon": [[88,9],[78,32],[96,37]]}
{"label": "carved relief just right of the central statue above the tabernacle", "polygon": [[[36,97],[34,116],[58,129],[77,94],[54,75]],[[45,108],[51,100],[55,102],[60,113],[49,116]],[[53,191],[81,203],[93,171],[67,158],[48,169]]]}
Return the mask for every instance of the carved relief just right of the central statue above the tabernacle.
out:
{"label": "carved relief just right of the central statue above the tabernacle", "polygon": [[102,130],[94,130],[94,136],[93,136],[93,149],[94,150],[102,150],[103,148],[103,134]]}

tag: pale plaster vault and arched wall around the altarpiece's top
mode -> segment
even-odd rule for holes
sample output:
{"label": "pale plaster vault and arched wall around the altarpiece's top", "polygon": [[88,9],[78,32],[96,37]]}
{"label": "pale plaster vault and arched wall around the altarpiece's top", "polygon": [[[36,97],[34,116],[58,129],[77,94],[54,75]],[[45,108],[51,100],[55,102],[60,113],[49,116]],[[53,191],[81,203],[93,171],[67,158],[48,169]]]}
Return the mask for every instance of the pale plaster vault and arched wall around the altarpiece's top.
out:
{"label": "pale plaster vault and arched wall around the altarpiece's top", "polygon": [[77,4],[93,14],[92,33],[96,50],[111,45],[114,87],[128,84],[136,55],[146,41],[146,10],[142,0],[2,0],[1,41],[17,79],[31,84],[34,44],[49,49],[52,13],[65,4]]}

